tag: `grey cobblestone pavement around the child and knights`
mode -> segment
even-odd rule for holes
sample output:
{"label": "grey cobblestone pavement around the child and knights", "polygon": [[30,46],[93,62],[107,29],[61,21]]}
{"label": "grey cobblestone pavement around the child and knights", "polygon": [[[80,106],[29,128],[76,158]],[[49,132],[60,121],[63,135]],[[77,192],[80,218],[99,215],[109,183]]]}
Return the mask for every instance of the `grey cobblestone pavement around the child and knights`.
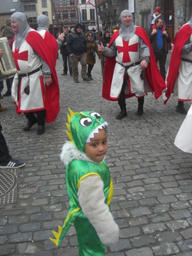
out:
{"label": "grey cobblestone pavement around the child and knights", "polygon": [[[192,156],[174,146],[184,120],[176,112],[177,98],[164,105],[162,96],[155,101],[147,95],[142,117],[136,115],[136,98],[131,98],[127,118],[118,121],[117,102],[101,98],[98,60],[91,83],[80,78],[74,84],[69,75],[61,76],[61,55],[57,71],[61,111],[54,123],[46,124],[44,135],[36,135],[36,126],[22,131],[24,115],[16,115],[10,97],[2,99],[8,107],[0,113],[8,147],[26,165],[17,171],[0,171],[0,255],[78,255],[74,227],[61,248],[49,240],[51,230],[62,225],[68,212],[65,167],[59,155],[68,139],[65,123],[71,108],[98,111],[109,123],[106,161],[114,183],[111,211],[121,231],[120,241],[107,248],[106,255],[191,256]],[[190,103],[185,105],[190,108]]]}

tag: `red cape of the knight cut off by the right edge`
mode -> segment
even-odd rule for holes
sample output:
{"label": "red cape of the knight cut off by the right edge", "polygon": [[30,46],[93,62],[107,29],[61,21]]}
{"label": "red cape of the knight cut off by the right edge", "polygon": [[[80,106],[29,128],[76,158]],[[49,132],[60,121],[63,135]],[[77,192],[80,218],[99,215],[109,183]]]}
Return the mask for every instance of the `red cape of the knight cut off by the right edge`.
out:
{"label": "red cape of the knight cut off by the right edge", "polygon": [[190,28],[190,25],[186,24],[182,28],[180,28],[180,31],[177,34],[177,39],[174,44],[174,50],[170,57],[169,71],[167,75],[167,90],[165,93],[167,99],[164,101],[164,104],[167,103],[171,93],[174,91],[175,81],[177,79],[177,75],[179,74],[181,50],[184,47],[184,44],[190,38],[191,33],[192,28]]}

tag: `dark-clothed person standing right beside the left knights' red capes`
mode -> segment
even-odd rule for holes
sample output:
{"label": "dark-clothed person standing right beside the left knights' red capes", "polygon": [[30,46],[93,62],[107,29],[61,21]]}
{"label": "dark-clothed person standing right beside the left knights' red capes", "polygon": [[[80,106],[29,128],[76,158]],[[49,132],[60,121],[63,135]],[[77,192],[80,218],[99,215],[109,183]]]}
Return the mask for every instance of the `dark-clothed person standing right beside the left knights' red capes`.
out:
{"label": "dark-clothed person standing right beside the left knights' red capes", "polygon": [[63,33],[61,33],[61,35],[58,36],[58,40],[61,41],[60,53],[63,59],[63,73],[61,75],[67,75],[69,69],[70,75],[72,76],[72,61],[67,50],[68,35],[68,27],[65,26],[63,27]]}

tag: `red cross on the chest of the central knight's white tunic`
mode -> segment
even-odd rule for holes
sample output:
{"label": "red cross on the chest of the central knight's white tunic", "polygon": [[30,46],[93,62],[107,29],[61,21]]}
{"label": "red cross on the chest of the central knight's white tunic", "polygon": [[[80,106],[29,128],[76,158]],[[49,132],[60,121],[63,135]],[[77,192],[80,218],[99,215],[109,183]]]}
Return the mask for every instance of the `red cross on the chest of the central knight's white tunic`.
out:
{"label": "red cross on the chest of the central knight's white tunic", "polygon": [[138,43],[129,45],[129,41],[126,42],[123,40],[123,46],[117,45],[117,48],[118,48],[118,53],[121,53],[121,52],[124,53],[122,62],[127,63],[127,62],[131,62],[129,52],[137,52]]}

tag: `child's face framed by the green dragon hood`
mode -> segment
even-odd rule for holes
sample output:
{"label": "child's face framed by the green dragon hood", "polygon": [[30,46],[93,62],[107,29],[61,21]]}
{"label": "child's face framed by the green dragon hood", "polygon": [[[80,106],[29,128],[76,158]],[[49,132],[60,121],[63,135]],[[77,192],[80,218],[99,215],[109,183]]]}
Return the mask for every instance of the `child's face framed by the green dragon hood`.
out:
{"label": "child's face framed by the green dragon hood", "polygon": [[94,138],[91,138],[91,142],[85,144],[85,154],[97,163],[103,161],[104,155],[108,151],[107,137],[107,131],[105,129],[99,129],[98,134],[95,134]]}

